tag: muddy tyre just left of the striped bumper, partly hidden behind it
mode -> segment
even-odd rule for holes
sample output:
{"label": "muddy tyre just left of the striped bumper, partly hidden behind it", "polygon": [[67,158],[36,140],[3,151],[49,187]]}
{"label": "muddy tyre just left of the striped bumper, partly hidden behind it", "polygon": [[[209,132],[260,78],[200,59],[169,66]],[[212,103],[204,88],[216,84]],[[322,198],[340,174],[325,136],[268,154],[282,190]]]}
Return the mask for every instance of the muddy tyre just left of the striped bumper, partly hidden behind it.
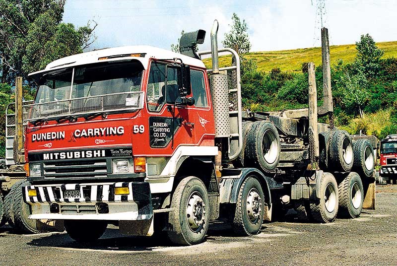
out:
{"label": "muddy tyre just left of the striped bumper, partly hidden behind it", "polygon": [[37,234],[42,231],[37,228],[35,219],[28,219],[30,215],[30,207],[23,201],[22,187],[28,185],[30,185],[29,182],[21,182],[17,187],[15,187],[15,192],[12,196],[14,230],[21,234]]}

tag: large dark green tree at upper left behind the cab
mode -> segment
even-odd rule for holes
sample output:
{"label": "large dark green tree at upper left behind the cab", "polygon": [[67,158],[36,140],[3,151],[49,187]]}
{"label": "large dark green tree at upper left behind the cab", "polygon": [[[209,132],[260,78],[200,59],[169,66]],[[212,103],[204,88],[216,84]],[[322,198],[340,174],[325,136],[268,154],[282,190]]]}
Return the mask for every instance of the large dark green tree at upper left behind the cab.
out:
{"label": "large dark green tree at upper left behind the cab", "polygon": [[66,0],[0,0],[1,82],[81,53],[95,40],[93,27],[61,23]]}

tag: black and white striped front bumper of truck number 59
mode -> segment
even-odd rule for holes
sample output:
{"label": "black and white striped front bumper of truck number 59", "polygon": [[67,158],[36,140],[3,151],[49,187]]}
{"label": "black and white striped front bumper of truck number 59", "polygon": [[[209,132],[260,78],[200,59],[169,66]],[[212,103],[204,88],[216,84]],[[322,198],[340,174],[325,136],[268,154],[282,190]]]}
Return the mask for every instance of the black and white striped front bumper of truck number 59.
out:
{"label": "black and white striped front bumper of truck number 59", "polygon": [[[115,195],[115,188],[129,188],[128,195]],[[153,216],[146,182],[31,185],[23,187],[24,201],[31,205],[30,219],[148,220]],[[36,190],[29,197],[28,190]],[[64,198],[66,191],[79,191],[80,198]],[[106,203],[108,211],[100,211]],[[58,211],[54,211],[57,206]]]}

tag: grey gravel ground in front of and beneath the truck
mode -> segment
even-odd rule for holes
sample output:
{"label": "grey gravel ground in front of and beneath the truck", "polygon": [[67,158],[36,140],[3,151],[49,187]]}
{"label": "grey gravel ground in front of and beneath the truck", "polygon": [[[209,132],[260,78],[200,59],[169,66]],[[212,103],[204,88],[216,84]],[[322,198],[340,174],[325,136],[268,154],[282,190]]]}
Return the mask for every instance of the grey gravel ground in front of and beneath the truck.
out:
{"label": "grey gravel ground in front of and beneath the truck", "polygon": [[234,237],[212,224],[206,241],[167,246],[148,237],[126,237],[108,228],[95,246],[66,233],[15,235],[0,228],[0,265],[397,265],[397,185],[377,186],[376,210],[331,224],[295,221],[264,224],[254,237]]}

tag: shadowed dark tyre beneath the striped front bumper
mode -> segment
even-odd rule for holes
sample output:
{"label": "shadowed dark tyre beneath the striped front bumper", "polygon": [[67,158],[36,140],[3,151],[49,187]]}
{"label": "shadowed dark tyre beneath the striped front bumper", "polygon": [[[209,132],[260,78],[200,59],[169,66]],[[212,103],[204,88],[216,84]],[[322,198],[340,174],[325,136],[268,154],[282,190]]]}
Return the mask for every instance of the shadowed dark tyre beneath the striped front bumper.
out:
{"label": "shadowed dark tyre beneath the striped front bumper", "polygon": [[98,240],[105,233],[107,226],[105,221],[65,220],[67,234],[79,243],[92,243]]}

